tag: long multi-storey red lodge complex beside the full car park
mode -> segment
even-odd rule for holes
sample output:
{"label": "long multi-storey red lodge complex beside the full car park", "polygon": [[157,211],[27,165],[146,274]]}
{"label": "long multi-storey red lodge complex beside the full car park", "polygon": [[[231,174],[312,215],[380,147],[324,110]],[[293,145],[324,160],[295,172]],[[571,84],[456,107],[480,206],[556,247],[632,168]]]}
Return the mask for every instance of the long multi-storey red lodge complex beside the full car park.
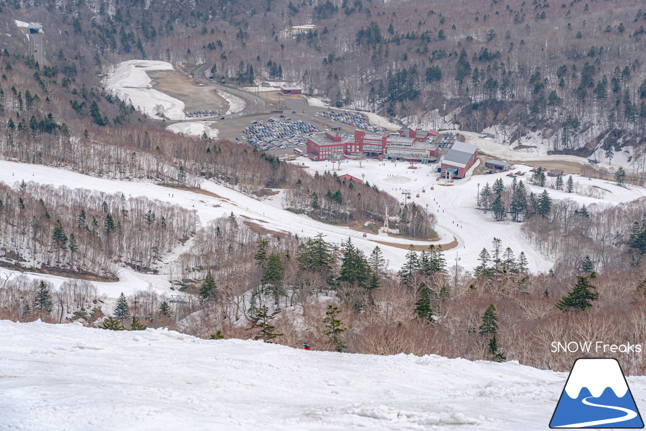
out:
{"label": "long multi-storey red lodge complex beside the full car park", "polygon": [[307,138],[307,157],[318,161],[340,153],[347,159],[369,157],[429,163],[435,162],[439,155],[437,145],[430,142],[438,135],[434,130],[402,129],[387,136],[355,130],[354,136],[341,137],[340,129],[332,127],[325,137]]}

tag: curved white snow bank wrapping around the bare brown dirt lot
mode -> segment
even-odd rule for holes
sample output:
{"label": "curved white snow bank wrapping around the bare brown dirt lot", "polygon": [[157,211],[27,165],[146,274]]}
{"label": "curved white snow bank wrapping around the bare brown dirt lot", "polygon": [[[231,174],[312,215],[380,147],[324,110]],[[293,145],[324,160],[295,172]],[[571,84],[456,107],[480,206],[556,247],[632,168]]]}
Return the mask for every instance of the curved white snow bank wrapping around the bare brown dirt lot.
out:
{"label": "curved white snow bank wrapping around the bare brown dirt lot", "polygon": [[154,116],[155,105],[164,107],[164,115],[171,120],[184,118],[184,102],[152,88],[147,71],[172,71],[166,61],[130,60],[123,61],[105,78],[107,89],[130,99],[132,105],[147,115]]}

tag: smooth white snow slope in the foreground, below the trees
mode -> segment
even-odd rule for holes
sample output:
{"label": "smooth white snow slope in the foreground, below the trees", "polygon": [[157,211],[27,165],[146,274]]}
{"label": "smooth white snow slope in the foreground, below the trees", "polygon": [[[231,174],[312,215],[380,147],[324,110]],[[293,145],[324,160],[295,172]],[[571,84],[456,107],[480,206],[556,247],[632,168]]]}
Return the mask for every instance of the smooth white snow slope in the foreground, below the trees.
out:
{"label": "smooth white snow slope in the foreground, below the trees", "polygon": [[[0,321],[3,430],[547,430],[567,373]],[[629,377],[635,401],[646,378]]]}

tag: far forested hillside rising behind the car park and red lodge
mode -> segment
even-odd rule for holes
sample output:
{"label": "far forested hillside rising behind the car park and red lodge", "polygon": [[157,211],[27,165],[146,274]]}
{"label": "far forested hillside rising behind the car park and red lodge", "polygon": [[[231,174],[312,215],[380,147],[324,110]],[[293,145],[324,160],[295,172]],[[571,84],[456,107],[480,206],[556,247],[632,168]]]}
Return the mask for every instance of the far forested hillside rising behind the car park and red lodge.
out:
{"label": "far forested hillside rising behind the car park and red lodge", "polygon": [[[14,36],[9,18],[42,22],[48,61],[68,80],[88,76],[88,89],[122,60],[206,63],[230,82],[299,83],[413,126],[495,124],[508,141],[543,130],[557,151],[639,144],[634,159],[643,153],[646,8],[637,0],[35,1],[3,15]],[[21,38],[3,38],[27,54]],[[105,127],[101,118],[94,127]]]}

